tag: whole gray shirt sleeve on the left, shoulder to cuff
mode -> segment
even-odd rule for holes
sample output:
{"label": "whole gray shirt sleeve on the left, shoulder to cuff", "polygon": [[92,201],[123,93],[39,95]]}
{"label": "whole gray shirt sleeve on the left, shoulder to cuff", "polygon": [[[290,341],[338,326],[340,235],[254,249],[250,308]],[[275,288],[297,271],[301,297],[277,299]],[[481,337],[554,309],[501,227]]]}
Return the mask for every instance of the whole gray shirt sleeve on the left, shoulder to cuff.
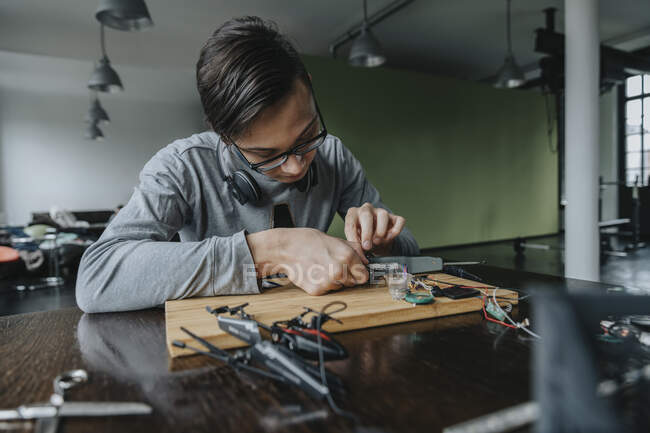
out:
{"label": "whole gray shirt sleeve on the left, shoulder to cuff", "polygon": [[192,217],[189,169],[159,152],[128,204],[84,253],[76,298],[87,313],[155,307],[170,299],[259,293],[245,232],[170,242]]}

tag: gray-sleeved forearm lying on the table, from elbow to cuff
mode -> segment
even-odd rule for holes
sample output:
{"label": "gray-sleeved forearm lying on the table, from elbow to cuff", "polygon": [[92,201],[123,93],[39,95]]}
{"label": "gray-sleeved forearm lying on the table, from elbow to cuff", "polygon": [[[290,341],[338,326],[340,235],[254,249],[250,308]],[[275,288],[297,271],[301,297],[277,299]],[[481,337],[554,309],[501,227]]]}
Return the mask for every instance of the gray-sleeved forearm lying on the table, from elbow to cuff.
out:
{"label": "gray-sleeved forearm lying on the table, from elbow to cuff", "polygon": [[86,312],[151,308],[170,299],[259,293],[243,232],[200,242],[102,239],[84,254],[77,303]]}

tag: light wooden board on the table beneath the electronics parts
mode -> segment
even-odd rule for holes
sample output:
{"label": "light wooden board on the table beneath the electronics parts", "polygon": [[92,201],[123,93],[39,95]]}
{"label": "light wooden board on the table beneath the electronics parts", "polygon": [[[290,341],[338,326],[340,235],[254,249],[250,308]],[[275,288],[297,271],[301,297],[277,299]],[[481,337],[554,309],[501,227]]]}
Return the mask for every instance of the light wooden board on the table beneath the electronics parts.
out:
{"label": "light wooden board on the table beneath the electronics parts", "polygon": [[[431,274],[428,278],[449,282],[450,285],[465,284],[493,287],[443,273]],[[281,280],[279,282],[288,283]],[[447,287],[445,284],[439,285],[442,288]],[[492,290],[489,290],[489,292],[491,294]],[[517,303],[517,292],[499,289],[497,294],[499,297],[512,299],[512,304]],[[256,320],[270,325],[274,321],[290,319],[300,314],[303,307],[320,310],[332,301],[343,301],[348,307],[334,315],[343,322],[342,324],[329,321],[323,326],[329,332],[350,331],[433,317],[451,316],[478,311],[482,308],[482,300],[479,298],[458,300],[436,298],[433,304],[414,307],[405,301],[393,300],[385,284],[358,286],[330,292],[323,296],[310,296],[293,284],[288,283],[286,286],[265,290],[259,295],[215,296],[167,301],[165,303],[167,347],[172,358],[194,354],[190,350],[180,349],[172,345],[172,341],[180,340],[188,344],[191,343],[193,346],[199,346],[181,331],[181,326],[222,349],[246,346],[243,341],[219,329],[216,317],[205,310],[208,305],[213,308],[222,305],[234,307],[248,302],[250,305],[246,307],[246,312],[253,315]]]}

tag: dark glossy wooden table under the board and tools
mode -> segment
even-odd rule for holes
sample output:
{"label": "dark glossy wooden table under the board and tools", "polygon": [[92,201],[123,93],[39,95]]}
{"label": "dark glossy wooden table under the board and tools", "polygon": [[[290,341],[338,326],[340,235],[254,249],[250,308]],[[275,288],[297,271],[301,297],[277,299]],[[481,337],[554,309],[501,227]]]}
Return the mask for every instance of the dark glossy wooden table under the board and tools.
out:
{"label": "dark glossy wooden table under the board and tools", "polygon": [[[487,266],[470,270],[523,290],[606,287]],[[513,315],[527,317],[528,304],[522,302]],[[360,418],[355,426],[295,388],[203,357],[172,361],[162,310],[83,314],[65,308],[10,315],[0,317],[0,332],[0,408],[46,401],[52,379],[73,368],[86,369],[90,382],[73,389],[71,400],[143,401],[153,407],[147,416],[66,419],[65,432],[438,432],[528,401],[535,344],[478,312],[339,334],[350,357],[328,367],[346,384],[347,392],[336,400]],[[297,408],[312,420],[283,425],[296,418]]]}

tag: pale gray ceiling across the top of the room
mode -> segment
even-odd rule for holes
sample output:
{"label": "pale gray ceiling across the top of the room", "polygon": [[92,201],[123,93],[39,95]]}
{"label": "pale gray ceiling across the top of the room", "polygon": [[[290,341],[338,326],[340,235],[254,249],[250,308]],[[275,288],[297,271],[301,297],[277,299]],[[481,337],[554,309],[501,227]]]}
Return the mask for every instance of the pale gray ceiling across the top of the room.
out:
{"label": "pale gray ceiling across the top of the room", "polygon": [[[570,0],[568,0],[570,1]],[[368,0],[369,14],[391,0]],[[97,0],[2,0],[0,50],[94,61],[99,51]],[[192,69],[208,35],[223,21],[253,14],[278,23],[299,51],[328,55],[332,40],[357,24],[361,0],[147,0],[155,26],[145,32],[107,30],[116,65]],[[539,58],[534,30],[542,9],[561,0],[513,0],[513,45],[522,65]],[[647,45],[650,1],[601,0],[601,39]],[[389,66],[467,79],[492,75],[505,51],[505,0],[415,0],[373,31]],[[631,40],[630,40],[631,39]],[[341,50],[347,53],[348,46]],[[0,65],[1,67],[1,65]]]}

